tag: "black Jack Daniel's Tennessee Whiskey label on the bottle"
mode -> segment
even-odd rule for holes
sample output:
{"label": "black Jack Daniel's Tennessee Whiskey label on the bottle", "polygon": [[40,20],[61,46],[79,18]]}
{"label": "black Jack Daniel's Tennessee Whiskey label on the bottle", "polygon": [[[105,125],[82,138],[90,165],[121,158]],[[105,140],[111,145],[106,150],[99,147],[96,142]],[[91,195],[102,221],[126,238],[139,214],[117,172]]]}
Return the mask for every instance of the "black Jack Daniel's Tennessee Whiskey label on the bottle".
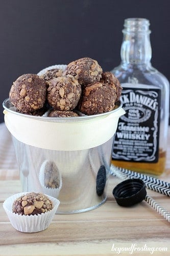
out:
{"label": "black Jack Daniel's Tennessee Whiskey label on the bottle", "polygon": [[113,160],[158,162],[161,91],[154,86],[122,84],[120,116],[113,143]]}

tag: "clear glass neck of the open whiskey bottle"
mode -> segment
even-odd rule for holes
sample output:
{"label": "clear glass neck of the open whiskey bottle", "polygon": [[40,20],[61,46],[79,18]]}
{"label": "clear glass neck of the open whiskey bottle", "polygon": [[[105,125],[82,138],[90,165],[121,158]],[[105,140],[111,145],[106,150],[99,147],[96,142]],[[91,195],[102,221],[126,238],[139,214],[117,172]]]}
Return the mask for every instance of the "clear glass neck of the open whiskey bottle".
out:
{"label": "clear glass neck of the open whiskey bottle", "polygon": [[144,18],[125,19],[120,51],[123,65],[149,65],[152,57],[149,21]]}

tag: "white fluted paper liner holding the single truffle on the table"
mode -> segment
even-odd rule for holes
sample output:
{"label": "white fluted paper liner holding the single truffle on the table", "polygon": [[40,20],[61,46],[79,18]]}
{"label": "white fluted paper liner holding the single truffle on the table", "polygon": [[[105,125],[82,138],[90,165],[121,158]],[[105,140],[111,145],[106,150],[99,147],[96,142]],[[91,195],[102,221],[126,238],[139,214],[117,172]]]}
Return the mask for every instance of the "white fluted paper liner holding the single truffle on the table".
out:
{"label": "white fluted paper liner holding the single truffle on the table", "polygon": [[38,215],[19,215],[18,213],[12,212],[13,202],[21,195],[25,195],[26,193],[28,192],[14,194],[7,198],[3,204],[4,210],[6,211],[12,226],[16,230],[28,233],[42,231],[46,229],[52,222],[52,219],[57,211],[60,201],[50,195],[46,195],[53,202],[54,205],[54,208],[51,211]]}

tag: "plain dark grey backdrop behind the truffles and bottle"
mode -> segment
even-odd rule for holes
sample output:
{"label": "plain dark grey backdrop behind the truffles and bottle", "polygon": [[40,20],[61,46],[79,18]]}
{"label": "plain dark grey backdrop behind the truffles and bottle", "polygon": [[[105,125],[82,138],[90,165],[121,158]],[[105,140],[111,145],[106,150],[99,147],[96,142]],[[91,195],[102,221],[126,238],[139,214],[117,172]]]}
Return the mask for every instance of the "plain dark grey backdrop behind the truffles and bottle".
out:
{"label": "plain dark grey backdrop behind the truffles and bottle", "polygon": [[143,17],[152,30],[152,65],[170,81],[169,0],[2,0],[0,122],[16,78],[89,56],[104,71],[120,63],[124,19]]}

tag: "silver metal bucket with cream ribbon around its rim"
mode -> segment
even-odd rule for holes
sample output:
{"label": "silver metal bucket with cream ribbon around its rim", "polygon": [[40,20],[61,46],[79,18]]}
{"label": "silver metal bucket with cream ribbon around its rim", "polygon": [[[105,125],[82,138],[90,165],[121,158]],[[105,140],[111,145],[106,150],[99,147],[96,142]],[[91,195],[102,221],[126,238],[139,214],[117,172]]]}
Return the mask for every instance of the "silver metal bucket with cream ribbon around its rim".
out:
{"label": "silver metal bucket with cream ribbon around its rim", "polygon": [[60,200],[57,213],[95,209],[106,201],[113,136],[122,104],[110,112],[80,117],[21,114],[3,103],[12,134],[22,191]]}

